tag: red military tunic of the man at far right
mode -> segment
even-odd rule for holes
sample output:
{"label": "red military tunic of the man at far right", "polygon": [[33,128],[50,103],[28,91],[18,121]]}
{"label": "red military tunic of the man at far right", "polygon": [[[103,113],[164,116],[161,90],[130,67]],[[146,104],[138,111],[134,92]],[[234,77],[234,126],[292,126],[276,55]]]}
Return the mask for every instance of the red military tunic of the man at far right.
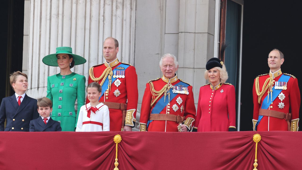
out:
{"label": "red military tunic of the man at far right", "polygon": [[[258,102],[258,95],[256,90],[256,81],[259,82],[259,90],[262,91],[262,87],[265,83],[265,81],[269,78],[273,78],[273,84],[275,85],[275,82],[278,81],[280,77],[283,75],[281,70],[276,71],[275,73],[264,74],[256,77],[254,80],[253,85],[253,103],[254,103],[254,113],[253,113],[253,124],[254,124],[254,130],[255,130],[255,124],[258,121],[259,118],[259,109],[261,109],[262,103],[269,103],[268,110],[275,110],[278,112],[291,113],[291,131],[297,131],[298,130],[298,121],[299,121],[299,108],[300,108],[300,90],[298,87],[298,80],[289,74],[285,74],[287,76],[290,76],[288,82],[287,82],[287,88],[286,90],[282,90],[278,96],[271,101],[271,94],[269,94],[269,101],[264,100],[265,97],[268,95],[268,91],[270,88],[268,88],[263,96],[261,97],[260,104]],[[268,84],[268,83],[267,83]],[[283,83],[284,84],[284,83]],[[272,85],[272,86],[274,86]],[[258,87],[258,86],[257,86]],[[274,94],[274,91],[273,91]],[[284,96],[284,97],[282,97]],[[282,98],[283,100],[281,101]],[[294,130],[293,130],[294,128]],[[288,131],[288,122],[285,119],[280,119],[272,116],[263,116],[261,121],[259,122],[257,126],[257,131],[268,131],[268,130],[284,130]]]}

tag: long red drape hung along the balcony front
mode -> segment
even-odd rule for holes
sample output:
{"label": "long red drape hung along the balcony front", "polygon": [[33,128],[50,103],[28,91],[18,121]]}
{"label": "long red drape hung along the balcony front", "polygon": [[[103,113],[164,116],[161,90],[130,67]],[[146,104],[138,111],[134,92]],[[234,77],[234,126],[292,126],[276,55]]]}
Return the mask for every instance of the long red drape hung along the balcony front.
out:
{"label": "long red drape hung along the balcony front", "polygon": [[302,169],[302,132],[0,132],[0,169]]}

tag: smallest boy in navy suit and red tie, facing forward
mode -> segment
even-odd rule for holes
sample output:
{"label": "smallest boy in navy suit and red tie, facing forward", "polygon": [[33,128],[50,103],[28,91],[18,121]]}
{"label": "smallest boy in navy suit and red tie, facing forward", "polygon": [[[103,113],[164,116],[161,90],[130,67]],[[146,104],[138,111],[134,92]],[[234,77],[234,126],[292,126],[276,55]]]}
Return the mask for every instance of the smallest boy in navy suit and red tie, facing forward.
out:
{"label": "smallest boy in navy suit and red tie, facing forward", "polygon": [[31,120],[29,124],[30,132],[55,132],[62,131],[59,122],[54,121],[50,117],[50,112],[53,111],[53,103],[47,97],[42,97],[38,99],[37,102],[38,112],[40,117]]}

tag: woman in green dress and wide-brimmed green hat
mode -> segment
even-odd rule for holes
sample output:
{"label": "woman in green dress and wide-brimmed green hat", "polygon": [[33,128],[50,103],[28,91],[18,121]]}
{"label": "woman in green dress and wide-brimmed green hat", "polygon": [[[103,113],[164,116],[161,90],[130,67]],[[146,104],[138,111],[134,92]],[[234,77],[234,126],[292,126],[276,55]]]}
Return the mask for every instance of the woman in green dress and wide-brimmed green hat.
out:
{"label": "woman in green dress and wide-brimmed green hat", "polygon": [[[71,47],[57,47],[55,54],[43,57],[43,63],[60,68],[60,73],[47,78],[47,97],[53,102],[50,116],[61,123],[62,131],[75,131],[79,110],[85,102],[85,77],[73,73],[74,65],[84,64],[85,58],[72,54]],[[78,111],[75,102],[78,99]]]}

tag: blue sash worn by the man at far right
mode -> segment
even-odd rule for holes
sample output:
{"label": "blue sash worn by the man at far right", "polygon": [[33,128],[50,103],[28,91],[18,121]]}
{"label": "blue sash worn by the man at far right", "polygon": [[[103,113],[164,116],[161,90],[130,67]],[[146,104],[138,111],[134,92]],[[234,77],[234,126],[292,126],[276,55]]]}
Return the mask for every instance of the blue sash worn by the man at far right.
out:
{"label": "blue sash worn by the man at far right", "polygon": [[[278,81],[282,81],[282,82],[288,82],[289,78],[291,78],[291,76],[288,76],[288,75],[285,75],[285,74],[282,74],[281,77],[279,78]],[[273,90],[273,94],[272,94],[272,100],[269,100],[269,94],[264,98],[263,102],[262,102],[262,105],[261,105],[261,109],[268,109],[269,105],[271,104],[271,102],[265,102],[267,100],[269,101],[274,101],[278,96],[279,94],[281,93],[282,89],[275,89],[274,88],[275,85],[273,86],[272,90]],[[263,118],[263,116],[259,116],[258,117],[258,121],[256,123],[256,126],[255,126],[255,130],[257,129],[257,126],[258,124],[260,123],[261,119]]]}

